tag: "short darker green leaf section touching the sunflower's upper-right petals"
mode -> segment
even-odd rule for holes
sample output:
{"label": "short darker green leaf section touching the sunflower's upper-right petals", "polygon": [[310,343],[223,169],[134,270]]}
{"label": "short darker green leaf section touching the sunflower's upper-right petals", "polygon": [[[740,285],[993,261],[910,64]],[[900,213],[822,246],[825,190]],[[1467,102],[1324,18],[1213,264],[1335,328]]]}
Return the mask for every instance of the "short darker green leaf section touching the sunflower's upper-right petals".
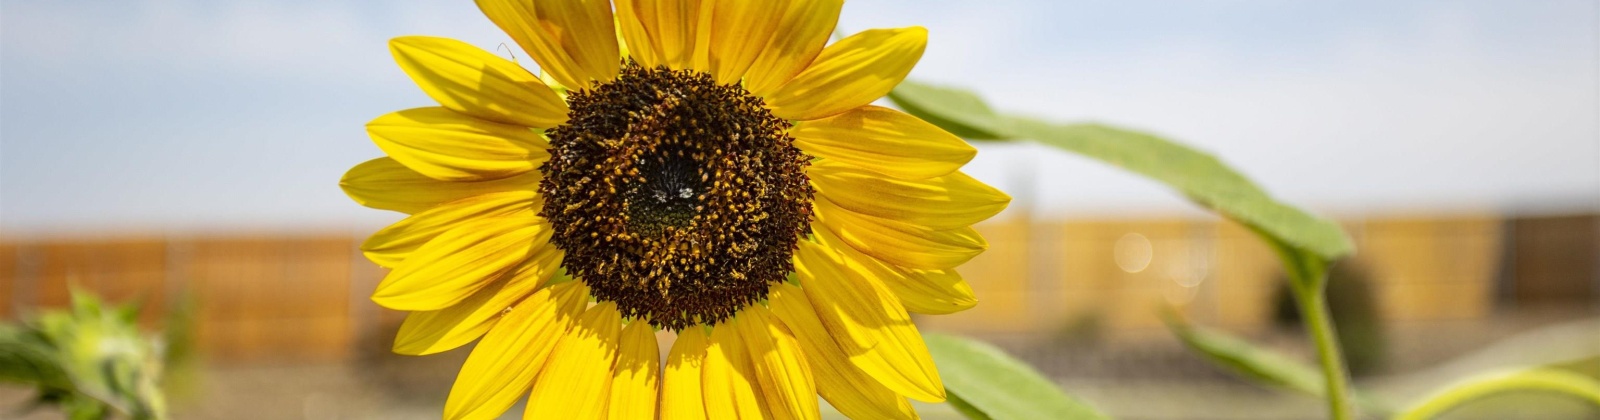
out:
{"label": "short darker green leaf section touching the sunflower's upper-right petals", "polygon": [[982,98],[966,90],[904,80],[890,91],[890,101],[906,114],[917,115],[962,138],[1011,138],[1005,119],[989,109]]}

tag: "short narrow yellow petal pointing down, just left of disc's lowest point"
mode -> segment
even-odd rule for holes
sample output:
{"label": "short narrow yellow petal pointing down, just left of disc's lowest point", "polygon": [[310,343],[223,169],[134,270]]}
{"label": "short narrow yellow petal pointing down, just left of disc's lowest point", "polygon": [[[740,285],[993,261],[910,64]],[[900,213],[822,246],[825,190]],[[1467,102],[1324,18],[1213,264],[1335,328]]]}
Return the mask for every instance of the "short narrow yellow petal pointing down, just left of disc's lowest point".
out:
{"label": "short narrow yellow petal pointing down, just left of disc's lowest point", "polygon": [[656,418],[656,383],[661,378],[661,349],[656,330],[643,319],[622,329],[621,351],[611,369],[611,402],[606,417],[618,420]]}

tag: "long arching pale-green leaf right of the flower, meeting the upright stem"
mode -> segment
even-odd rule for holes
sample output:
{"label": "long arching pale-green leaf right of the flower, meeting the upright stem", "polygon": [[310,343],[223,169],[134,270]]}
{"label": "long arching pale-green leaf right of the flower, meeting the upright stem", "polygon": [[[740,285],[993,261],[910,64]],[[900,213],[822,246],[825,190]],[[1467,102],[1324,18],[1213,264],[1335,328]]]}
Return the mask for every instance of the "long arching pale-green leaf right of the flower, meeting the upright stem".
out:
{"label": "long arching pale-green leaf right of the flower, meeting the upright stem", "polygon": [[1339,224],[1274,200],[1210,154],[1149,133],[1099,123],[1058,125],[1034,119],[1011,119],[1011,123],[1018,136],[1149,176],[1200,205],[1325,261],[1354,250]]}

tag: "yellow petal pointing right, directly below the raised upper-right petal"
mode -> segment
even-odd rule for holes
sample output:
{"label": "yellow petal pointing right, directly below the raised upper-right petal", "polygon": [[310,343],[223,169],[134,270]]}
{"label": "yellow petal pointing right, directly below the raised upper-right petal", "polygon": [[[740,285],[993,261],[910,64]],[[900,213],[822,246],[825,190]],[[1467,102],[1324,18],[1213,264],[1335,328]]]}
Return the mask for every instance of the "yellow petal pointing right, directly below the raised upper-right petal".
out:
{"label": "yellow petal pointing right, directly below the raised upper-right petal", "polygon": [[882,106],[800,122],[789,135],[806,154],[902,180],[952,173],[978,155],[944,128]]}

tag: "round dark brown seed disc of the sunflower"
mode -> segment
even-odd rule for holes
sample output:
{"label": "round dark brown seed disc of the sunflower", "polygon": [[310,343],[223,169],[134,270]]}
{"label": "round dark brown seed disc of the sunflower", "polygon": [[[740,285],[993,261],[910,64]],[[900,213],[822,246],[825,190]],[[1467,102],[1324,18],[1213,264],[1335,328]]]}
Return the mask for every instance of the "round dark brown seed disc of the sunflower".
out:
{"label": "round dark brown seed disc of the sunflower", "polygon": [[766,298],[808,232],[810,157],[738,85],[624,66],[571,93],[539,170],[568,273],[624,316],[680,330]]}

